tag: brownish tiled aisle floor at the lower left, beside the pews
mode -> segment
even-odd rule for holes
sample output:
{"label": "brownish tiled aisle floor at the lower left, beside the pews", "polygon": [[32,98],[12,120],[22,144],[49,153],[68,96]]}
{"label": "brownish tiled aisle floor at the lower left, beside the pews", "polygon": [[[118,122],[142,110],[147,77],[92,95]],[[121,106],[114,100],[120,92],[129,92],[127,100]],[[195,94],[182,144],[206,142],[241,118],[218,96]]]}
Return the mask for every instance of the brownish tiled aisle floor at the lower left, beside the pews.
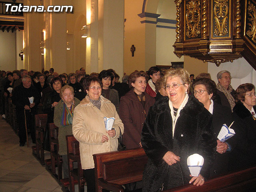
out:
{"label": "brownish tiled aisle floor at the lower left, beside the pews", "polygon": [[0,192],[61,192],[58,182],[32,155],[30,135],[29,144],[20,147],[18,136],[0,119]]}

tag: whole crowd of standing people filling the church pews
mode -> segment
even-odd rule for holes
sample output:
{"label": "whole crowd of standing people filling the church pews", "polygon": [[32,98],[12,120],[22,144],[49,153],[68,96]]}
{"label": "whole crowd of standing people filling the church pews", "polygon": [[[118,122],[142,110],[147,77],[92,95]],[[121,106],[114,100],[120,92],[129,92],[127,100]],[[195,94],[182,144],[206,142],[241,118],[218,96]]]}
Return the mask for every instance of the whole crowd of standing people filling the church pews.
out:
{"label": "whole crowd of standing people filling the church pews", "polygon": [[[34,116],[40,110],[48,114],[47,123],[59,127],[64,178],[68,177],[65,136],[73,134],[80,142],[88,191],[95,191],[92,154],[116,151],[120,133],[126,149],[144,148],[148,156],[142,191],[199,186],[256,164],[255,87],[246,83],[234,90],[226,70],[216,77],[217,85],[208,73],[194,79],[184,69],[163,74],[156,66],[124,75],[122,83],[113,69],[90,75],[84,68],[60,75],[53,68],[44,73],[1,71],[1,105],[4,98],[11,98],[16,106],[20,146],[26,143],[25,122],[35,142]],[[114,123],[107,130],[108,118]],[[236,132],[224,142],[217,138],[223,124],[232,124]],[[47,138],[45,133],[45,150],[49,150]],[[191,176],[187,158],[195,153],[203,156],[204,165],[198,176]]]}

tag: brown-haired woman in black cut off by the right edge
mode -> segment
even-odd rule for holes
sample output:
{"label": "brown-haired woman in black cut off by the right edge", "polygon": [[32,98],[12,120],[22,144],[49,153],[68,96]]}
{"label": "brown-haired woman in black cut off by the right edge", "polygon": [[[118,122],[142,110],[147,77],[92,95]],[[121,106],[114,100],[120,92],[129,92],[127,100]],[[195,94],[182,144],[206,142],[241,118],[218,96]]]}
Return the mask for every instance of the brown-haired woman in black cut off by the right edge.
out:
{"label": "brown-haired woman in black cut off by the right edge", "polygon": [[236,169],[256,164],[256,93],[253,84],[238,86],[235,93],[236,105],[233,117],[239,127],[239,145],[232,155],[231,166]]}

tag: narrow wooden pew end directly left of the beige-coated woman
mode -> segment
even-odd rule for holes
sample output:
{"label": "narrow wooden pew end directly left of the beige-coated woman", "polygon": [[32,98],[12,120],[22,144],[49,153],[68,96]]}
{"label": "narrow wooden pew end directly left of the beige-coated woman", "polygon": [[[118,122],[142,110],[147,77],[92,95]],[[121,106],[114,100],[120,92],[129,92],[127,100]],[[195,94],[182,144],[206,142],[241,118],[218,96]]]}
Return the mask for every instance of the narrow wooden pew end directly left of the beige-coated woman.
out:
{"label": "narrow wooden pew end directly left of the beige-coated woman", "polygon": [[[80,161],[79,142],[73,135],[66,136],[67,153],[68,153],[68,173],[70,192],[74,192],[74,185],[78,183],[78,191],[84,192],[84,171]],[[77,162],[78,168],[74,169],[73,163]],[[64,182],[62,182],[64,184]]]}

